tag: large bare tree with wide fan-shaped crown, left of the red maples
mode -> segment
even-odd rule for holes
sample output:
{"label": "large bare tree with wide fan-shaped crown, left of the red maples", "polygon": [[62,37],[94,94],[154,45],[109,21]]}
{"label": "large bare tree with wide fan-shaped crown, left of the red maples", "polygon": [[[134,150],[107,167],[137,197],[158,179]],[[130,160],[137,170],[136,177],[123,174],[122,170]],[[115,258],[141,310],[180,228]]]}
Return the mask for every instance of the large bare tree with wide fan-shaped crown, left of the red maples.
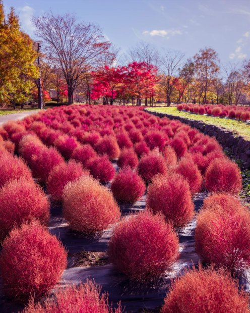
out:
{"label": "large bare tree with wide fan-shaped crown, left of the red maples", "polygon": [[73,93],[81,85],[92,67],[108,53],[110,43],[104,41],[101,30],[84,22],[78,23],[73,15],[47,13],[33,18],[36,35],[43,39],[54,64],[64,73],[68,86],[69,104]]}

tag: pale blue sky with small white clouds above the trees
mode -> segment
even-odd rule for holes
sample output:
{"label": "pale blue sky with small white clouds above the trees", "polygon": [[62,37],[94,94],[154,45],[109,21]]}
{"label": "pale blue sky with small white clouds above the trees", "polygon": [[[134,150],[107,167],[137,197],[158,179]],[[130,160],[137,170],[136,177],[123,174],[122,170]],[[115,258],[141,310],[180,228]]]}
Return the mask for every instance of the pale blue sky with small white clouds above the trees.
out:
{"label": "pale blue sky with small white clouds above the trees", "polygon": [[222,64],[250,58],[250,0],[3,0],[33,36],[30,16],[72,13],[98,24],[121,52],[141,40],[193,57],[205,46]]}

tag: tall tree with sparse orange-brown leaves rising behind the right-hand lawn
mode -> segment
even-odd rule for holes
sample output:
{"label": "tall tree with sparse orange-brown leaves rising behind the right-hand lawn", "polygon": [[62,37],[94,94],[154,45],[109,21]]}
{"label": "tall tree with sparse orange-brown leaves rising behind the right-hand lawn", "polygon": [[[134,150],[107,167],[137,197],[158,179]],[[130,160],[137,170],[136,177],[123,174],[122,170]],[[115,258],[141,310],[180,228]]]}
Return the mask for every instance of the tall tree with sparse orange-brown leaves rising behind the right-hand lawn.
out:
{"label": "tall tree with sparse orange-brown leaves rising behind the right-hand lawn", "polygon": [[205,47],[194,56],[196,79],[200,82],[203,103],[207,103],[207,92],[219,73],[219,59],[216,51]]}

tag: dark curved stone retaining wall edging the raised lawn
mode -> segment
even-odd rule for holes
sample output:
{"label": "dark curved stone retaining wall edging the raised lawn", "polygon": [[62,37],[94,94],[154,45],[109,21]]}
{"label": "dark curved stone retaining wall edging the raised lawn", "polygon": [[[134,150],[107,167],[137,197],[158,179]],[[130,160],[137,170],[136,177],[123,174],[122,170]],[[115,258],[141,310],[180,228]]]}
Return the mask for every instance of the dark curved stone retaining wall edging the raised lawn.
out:
{"label": "dark curved stone retaining wall edging the raised lawn", "polygon": [[179,120],[184,124],[188,124],[191,127],[197,128],[202,133],[215,137],[218,142],[223,146],[224,149],[228,149],[235,157],[235,159],[240,159],[242,161],[242,169],[250,169],[250,141],[244,139],[243,137],[235,135],[230,130],[225,128],[220,128],[218,126],[205,124],[202,121],[189,120],[179,116],[174,116],[171,114],[158,113],[146,110],[159,117],[167,117],[171,120]]}

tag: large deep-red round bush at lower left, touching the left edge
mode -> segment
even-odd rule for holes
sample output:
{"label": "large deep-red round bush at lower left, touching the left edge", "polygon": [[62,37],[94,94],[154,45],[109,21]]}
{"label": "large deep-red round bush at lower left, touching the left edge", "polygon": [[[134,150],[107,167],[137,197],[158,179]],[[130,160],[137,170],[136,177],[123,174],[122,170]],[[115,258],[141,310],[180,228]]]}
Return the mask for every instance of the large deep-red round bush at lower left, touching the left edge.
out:
{"label": "large deep-red round bush at lower left, touching the left edge", "polygon": [[0,268],[8,297],[27,301],[40,297],[60,279],[67,253],[37,221],[13,229],[3,242]]}

